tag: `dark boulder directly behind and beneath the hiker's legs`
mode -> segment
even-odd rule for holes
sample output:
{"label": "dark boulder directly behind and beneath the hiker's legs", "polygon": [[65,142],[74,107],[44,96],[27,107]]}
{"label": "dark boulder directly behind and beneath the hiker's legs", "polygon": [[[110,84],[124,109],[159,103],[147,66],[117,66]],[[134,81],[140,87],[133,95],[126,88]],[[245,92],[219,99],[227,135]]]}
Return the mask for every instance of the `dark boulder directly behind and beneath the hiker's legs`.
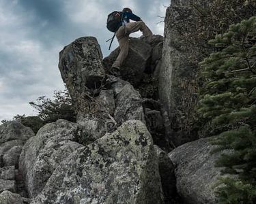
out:
{"label": "dark boulder directly behind and beneath the hiker's legs", "polygon": [[[147,44],[142,39],[130,37],[128,56],[120,67],[122,78],[136,86],[143,77],[147,65],[150,63],[151,53],[152,47],[150,44]],[[118,54],[119,48],[116,48],[109,56],[103,59],[106,70],[111,69]]]}

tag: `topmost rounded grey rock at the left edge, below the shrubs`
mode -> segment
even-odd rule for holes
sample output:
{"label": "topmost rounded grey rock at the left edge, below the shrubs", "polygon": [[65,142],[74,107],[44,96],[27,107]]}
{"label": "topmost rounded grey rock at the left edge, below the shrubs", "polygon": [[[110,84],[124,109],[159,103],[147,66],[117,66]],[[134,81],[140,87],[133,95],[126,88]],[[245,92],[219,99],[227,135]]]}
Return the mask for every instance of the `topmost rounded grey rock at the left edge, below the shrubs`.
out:
{"label": "topmost rounded grey rock at the left edge, below the shrubs", "polygon": [[24,126],[20,122],[5,122],[0,125],[0,144],[16,139],[20,141],[27,141],[29,137],[34,135],[35,134],[29,127]]}

